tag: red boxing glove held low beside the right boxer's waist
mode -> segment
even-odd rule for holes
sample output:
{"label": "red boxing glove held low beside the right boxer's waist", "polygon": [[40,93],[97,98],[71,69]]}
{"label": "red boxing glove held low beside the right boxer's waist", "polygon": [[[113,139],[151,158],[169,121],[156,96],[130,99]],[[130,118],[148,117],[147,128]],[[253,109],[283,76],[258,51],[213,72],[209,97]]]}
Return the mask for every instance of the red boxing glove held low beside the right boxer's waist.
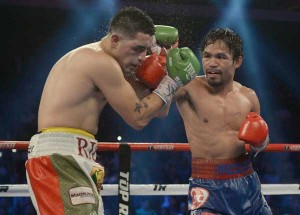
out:
{"label": "red boxing glove held low beside the right boxer's waist", "polygon": [[254,151],[262,151],[269,144],[269,128],[263,118],[249,112],[239,129],[238,138],[250,144]]}

